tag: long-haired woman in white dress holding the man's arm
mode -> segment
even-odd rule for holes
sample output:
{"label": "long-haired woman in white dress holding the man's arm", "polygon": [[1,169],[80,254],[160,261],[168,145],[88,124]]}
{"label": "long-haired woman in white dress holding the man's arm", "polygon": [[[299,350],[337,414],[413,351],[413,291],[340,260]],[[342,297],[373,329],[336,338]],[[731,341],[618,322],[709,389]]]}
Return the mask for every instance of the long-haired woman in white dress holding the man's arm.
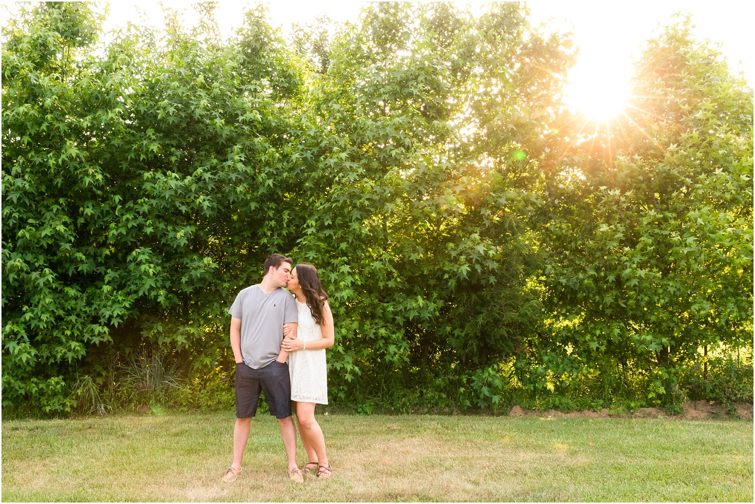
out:
{"label": "long-haired woman in white dress holding the man's arm", "polygon": [[286,334],[282,349],[289,352],[291,401],[294,401],[301,442],[309,457],[301,472],[316,470],[318,478],[330,478],[333,473],[325,453],[325,438],[315,419],[315,404],[328,404],[325,349],[334,343],[333,314],[314,266],[297,264],[291,272],[288,289],[296,296],[299,323],[296,334]]}

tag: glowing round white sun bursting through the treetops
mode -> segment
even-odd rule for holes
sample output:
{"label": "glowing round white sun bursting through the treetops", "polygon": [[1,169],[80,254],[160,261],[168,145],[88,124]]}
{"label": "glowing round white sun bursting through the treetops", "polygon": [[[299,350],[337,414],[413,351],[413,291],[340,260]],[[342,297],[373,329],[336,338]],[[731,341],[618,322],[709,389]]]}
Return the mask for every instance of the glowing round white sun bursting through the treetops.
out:
{"label": "glowing round white sun bursting through the treetops", "polygon": [[629,77],[621,68],[588,60],[578,63],[569,72],[564,91],[565,101],[574,112],[605,122],[627,105]]}

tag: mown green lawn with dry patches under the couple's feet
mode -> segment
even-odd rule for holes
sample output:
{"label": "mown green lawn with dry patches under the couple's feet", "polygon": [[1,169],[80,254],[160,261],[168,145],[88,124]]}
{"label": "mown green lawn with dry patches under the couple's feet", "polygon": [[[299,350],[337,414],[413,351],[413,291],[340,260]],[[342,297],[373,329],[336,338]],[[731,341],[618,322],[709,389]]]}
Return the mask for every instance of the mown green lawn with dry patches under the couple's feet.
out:
{"label": "mown green lawn with dry patches under the couple's feet", "polygon": [[751,420],[331,414],[319,421],[334,476],[300,485],[270,416],[223,484],[233,420],[5,420],[2,500],[753,501]]}

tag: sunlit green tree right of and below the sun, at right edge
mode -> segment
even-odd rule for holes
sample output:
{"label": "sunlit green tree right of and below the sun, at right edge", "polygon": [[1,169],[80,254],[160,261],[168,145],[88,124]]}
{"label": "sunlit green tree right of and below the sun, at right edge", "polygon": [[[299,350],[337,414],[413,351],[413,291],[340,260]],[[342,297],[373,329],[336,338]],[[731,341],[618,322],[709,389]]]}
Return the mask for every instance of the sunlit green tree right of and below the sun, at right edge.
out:
{"label": "sunlit green tree right of and below the sun, at right edge", "polygon": [[560,372],[646,370],[673,404],[698,349],[751,343],[752,93],[689,20],[638,61],[627,115],[549,188],[550,349]]}

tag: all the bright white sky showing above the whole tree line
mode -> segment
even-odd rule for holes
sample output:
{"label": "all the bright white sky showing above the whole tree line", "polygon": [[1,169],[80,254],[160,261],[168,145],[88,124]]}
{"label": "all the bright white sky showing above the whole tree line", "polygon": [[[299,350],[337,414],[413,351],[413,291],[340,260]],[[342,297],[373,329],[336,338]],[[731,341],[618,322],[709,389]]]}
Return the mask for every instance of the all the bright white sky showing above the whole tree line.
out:
{"label": "all the bright white sky showing above the whole tree line", "polygon": [[[3,0],[11,11],[16,2]],[[196,13],[190,8],[191,2],[165,0],[162,2],[173,8],[186,8],[186,20],[196,23]],[[259,2],[221,1],[216,11],[217,21],[223,35],[230,35],[242,23],[242,12],[248,5]],[[281,26],[284,31],[292,23],[313,23],[322,14],[332,20],[356,20],[359,8],[365,4],[361,0],[348,2],[336,0],[316,2],[310,0],[276,0],[266,3],[270,8],[270,21]],[[471,5],[479,10],[482,2],[454,2],[463,7]],[[572,103],[581,108],[593,106],[595,112],[615,106],[625,97],[630,74],[631,58],[643,41],[650,38],[658,25],[668,23],[676,11],[692,14],[695,32],[701,38],[721,44],[733,68],[744,72],[750,85],[753,83],[753,40],[752,23],[755,8],[748,2],[718,0],[716,2],[575,2],[563,0],[542,0],[528,2],[535,23],[546,23],[547,27],[559,31],[572,31],[580,48],[577,66],[572,69],[572,82],[568,93]],[[159,26],[162,16],[156,2],[121,0],[111,2],[106,29],[125,24],[126,20],[139,22],[138,10],[146,12],[149,23]],[[5,13],[4,13],[5,17]]]}

